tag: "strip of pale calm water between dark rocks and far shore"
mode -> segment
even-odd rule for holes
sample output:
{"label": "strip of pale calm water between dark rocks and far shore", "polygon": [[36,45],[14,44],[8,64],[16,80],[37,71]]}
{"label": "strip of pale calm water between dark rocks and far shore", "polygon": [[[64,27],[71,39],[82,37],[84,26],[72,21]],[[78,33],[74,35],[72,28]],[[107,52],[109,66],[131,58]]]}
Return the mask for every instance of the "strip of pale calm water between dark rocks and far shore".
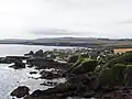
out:
{"label": "strip of pale calm water between dark rocks and far shore", "polygon": [[24,55],[30,51],[51,51],[54,48],[74,48],[74,47],[65,47],[65,46],[40,46],[40,45],[16,45],[16,44],[0,44],[0,56],[7,55]]}

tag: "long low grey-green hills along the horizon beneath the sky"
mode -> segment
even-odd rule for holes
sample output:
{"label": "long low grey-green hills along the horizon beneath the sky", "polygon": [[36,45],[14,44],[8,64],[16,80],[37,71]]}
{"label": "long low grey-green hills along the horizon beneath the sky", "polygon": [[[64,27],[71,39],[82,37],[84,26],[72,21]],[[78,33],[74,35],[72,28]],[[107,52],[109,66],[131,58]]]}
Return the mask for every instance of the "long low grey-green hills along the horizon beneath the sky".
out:
{"label": "long low grey-green hills along the horizon beneath the sky", "polygon": [[28,44],[48,46],[87,46],[87,47],[132,47],[131,38],[110,40],[94,37],[55,37],[36,40],[0,40],[0,44]]}

